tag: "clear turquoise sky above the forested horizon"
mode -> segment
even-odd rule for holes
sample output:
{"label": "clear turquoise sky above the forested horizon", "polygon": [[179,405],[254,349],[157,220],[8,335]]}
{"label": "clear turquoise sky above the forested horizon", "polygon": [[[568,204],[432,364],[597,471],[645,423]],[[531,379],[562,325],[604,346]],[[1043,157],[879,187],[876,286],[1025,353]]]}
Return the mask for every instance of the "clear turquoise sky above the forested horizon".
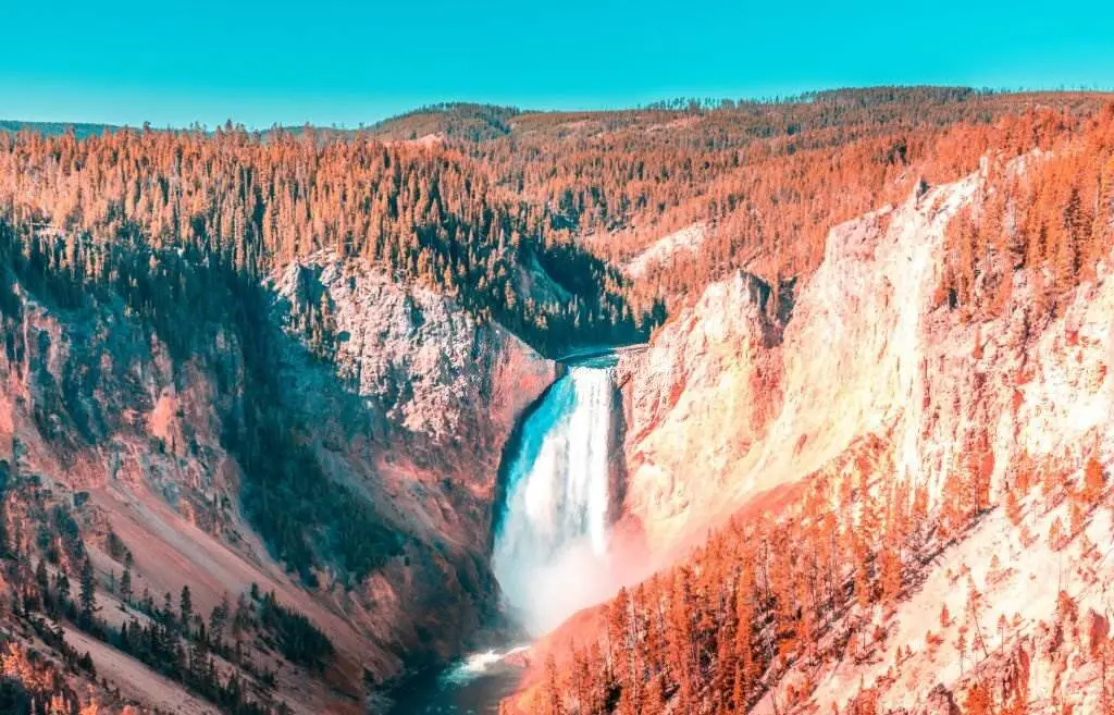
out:
{"label": "clear turquoise sky above the forested horizon", "polygon": [[4,6],[10,119],[354,127],[446,100],[605,108],[882,84],[1114,87],[1111,0]]}

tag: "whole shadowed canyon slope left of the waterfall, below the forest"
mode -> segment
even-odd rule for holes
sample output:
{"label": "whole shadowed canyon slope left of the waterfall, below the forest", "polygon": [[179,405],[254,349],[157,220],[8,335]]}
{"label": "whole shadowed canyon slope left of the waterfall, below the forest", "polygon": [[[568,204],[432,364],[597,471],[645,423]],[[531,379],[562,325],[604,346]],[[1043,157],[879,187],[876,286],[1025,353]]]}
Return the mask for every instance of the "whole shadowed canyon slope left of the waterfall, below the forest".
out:
{"label": "whole shadowed canyon slope left of the waterfall, below the forest", "polygon": [[[102,674],[116,648],[177,684],[116,680],[124,702],[362,712],[368,685],[459,652],[490,617],[497,456],[553,363],[334,259],[292,264],[266,302],[225,274],[206,322],[196,296],[145,317],[43,277],[4,231],[8,637],[42,648],[68,621],[69,643],[107,644],[85,646]],[[330,306],[329,347],[300,322],[307,300]],[[135,641],[149,624],[162,645]]]}

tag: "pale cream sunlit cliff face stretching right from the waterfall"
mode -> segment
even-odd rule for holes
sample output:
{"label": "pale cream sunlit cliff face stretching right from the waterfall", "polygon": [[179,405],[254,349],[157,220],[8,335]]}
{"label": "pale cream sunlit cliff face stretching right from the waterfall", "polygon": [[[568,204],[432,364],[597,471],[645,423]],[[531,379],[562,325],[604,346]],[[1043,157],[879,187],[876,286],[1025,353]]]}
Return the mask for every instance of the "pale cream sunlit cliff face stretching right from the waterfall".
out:
{"label": "pale cream sunlit cliff face stretching right from the waterfall", "polygon": [[1106,434],[1105,284],[1039,325],[1024,275],[990,324],[964,324],[937,294],[947,222],[983,180],[833,228],[783,326],[740,274],[625,359],[626,512],[655,549],[867,435],[938,490],[975,449],[999,481],[1023,457],[1077,460],[1074,445]]}

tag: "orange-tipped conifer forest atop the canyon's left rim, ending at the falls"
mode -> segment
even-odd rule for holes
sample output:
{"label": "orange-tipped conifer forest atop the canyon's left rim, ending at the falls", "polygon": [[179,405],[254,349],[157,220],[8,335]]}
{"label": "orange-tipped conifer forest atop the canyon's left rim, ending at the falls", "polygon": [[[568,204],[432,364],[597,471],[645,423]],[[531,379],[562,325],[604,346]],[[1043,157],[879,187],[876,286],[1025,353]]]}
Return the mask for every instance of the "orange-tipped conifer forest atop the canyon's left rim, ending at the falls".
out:
{"label": "orange-tipped conifer forest atop the canyon's left rim, ending at the falls", "polygon": [[99,254],[127,242],[193,247],[258,280],[328,249],[455,295],[547,351],[631,340],[653,320],[616,270],[545,231],[541,212],[453,149],[235,128],[0,144],[8,221],[33,228],[52,265],[98,280]]}

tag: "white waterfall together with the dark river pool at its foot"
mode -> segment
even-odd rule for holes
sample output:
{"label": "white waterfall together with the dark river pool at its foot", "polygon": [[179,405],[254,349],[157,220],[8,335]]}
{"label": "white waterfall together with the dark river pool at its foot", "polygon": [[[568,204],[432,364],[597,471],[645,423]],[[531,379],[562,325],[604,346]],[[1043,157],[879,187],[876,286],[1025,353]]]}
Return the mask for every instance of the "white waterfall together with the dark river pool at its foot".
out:
{"label": "white waterfall together with the dark river pool at its foot", "polygon": [[[519,430],[504,476],[491,566],[505,615],[538,637],[617,588],[609,551],[612,354],[578,361]],[[525,639],[528,639],[525,638]],[[397,715],[497,713],[518,684],[510,643],[397,693]]]}

